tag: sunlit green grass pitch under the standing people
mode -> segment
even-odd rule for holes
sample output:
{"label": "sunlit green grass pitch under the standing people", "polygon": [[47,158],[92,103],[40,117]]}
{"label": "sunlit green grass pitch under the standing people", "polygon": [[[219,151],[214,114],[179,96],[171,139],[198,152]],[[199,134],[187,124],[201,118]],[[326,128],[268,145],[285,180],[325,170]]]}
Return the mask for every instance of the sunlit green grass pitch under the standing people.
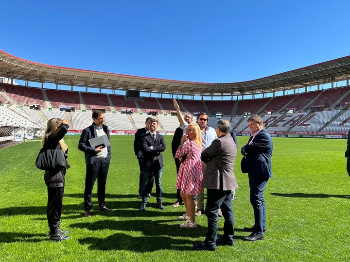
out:
{"label": "sunlit green grass pitch under the standing people", "polygon": [[[61,226],[71,239],[61,243],[46,235],[47,189],[43,171],[35,167],[40,141],[27,141],[0,150],[0,261],[350,261],[350,178],[346,172],[346,140],[273,138],[274,178],[265,190],[267,232],[255,243],[242,241],[242,229],[253,224],[248,180],[240,171],[238,154],[234,173],[239,188],[233,202],[235,245],[215,252],[192,250],[207,230],[205,215],[197,229],[181,229],[175,202],[175,163],[172,136],[165,136],[163,153],[164,211],[149,199],[140,212],[139,165],[133,153],[134,136],[112,136],[112,162],[106,189],[110,213],[97,211],[97,186],[92,217],[84,217],[85,159],[77,149],[79,136],[66,136],[71,168],[66,175]],[[248,137],[238,137],[239,146]],[[154,189],[155,190],[155,189]],[[155,193],[153,194],[155,195]],[[223,218],[219,219],[219,235]]]}

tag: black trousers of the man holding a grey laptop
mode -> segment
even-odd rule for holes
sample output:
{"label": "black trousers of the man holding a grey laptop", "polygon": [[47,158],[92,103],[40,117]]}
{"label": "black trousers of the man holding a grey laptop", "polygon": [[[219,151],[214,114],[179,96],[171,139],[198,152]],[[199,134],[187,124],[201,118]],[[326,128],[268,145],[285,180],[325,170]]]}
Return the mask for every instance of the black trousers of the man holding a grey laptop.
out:
{"label": "black trousers of the man holding a grey laptop", "polygon": [[84,208],[91,209],[92,189],[97,179],[97,199],[99,207],[105,206],[105,185],[107,181],[109,161],[106,158],[95,158],[93,164],[87,164],[84,191]]}

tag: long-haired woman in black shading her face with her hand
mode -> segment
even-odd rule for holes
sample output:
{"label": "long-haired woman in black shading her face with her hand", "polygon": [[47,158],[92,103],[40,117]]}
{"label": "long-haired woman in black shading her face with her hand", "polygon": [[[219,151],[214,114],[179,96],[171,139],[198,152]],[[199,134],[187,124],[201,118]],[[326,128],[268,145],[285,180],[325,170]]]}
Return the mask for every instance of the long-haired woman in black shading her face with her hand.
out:
{"label": "long-haired woman in black shading her face with her hand", "polygon": [[63,140],[64,135],[69,129],[67,119],[52,118],[47,122],[47,127],[41,142],[41,146],[45,149],[55,149],[60,146],[66,158],[66,166],[59,170],[45,171],[44,180],[48,188],[48,204],[47,204],[47,219],[50,228],[50,240],[62,241],[70,239],[65,236],[69,231],[61,230],[60,220],[62,212],[62,199],[65,184],[65,174],[70,165],[67,162],[68,147]]}

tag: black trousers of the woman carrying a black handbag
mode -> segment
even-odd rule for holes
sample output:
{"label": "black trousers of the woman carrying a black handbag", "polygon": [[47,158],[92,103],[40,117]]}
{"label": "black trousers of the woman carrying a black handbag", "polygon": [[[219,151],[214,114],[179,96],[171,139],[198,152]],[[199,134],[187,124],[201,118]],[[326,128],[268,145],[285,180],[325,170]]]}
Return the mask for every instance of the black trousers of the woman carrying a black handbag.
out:
{"label": "black trousers of the woman carrying a black handbag", "polygon": [[45,171],[44,180],[48,189],[46,216],[50,229],[57,228],[61,222],[65,174],[66,168],[58,172]]}

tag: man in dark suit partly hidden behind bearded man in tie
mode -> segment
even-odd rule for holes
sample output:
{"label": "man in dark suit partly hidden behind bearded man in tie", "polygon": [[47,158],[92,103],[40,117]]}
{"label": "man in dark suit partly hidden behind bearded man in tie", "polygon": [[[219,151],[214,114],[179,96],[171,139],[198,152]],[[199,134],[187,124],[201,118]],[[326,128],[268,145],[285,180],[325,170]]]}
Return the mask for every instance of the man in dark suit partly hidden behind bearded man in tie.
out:
{"label": "man in dark suit partly hidden behind bearded man in tie", "polygon": [[[149,131],[149,121],[152,117],[147,117],[144,128],[139,128],[135,133],[134,139],[134,152],[135,156],[139,160],[140,166],[140,178],[139,178],[139,198],[141,198],[141,190],[143,183],[143,171],[142,171],[142,158],[143,158],[143,150],[142,150],[142,136]],[[151,197],[152,188],[153,188],[154,176],[152,176],[147,184],[147,197]]]}

